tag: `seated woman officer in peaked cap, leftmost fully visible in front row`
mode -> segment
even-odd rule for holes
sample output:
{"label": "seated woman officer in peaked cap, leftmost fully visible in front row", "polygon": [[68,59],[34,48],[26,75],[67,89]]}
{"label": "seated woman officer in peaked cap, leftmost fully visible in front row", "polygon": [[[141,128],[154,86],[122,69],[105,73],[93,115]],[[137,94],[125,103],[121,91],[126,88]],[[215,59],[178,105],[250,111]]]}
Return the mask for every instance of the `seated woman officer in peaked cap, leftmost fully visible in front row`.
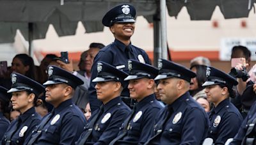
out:
{"label": "seated woman officer in peaked cap, leftmost fully visible in front row", "polygon": [[[44,92],[44,86],[22,74],[11,74],[12,108],[20,111],[20,116],[12,121],[2,139],[2,144],[24,144],[32,130],[40,123],[41,116],[36,113],[38,96]],[[1,130],[2,131],[2,130]]]}

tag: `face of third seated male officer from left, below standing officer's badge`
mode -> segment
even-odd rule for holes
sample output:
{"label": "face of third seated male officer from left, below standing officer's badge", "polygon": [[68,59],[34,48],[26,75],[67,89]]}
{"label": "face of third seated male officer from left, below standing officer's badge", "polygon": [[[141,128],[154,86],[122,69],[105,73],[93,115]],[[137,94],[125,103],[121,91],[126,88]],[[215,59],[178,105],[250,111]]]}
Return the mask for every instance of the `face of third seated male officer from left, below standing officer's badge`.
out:
{"label": "face of third seated male officer from left, below standing officer's badge", "polygon": [[151,88],[148,85],[150,85],[148,78],[130,80],[128,85],[130,97],[140,102],[141,99],[147,96],[147,92]]}

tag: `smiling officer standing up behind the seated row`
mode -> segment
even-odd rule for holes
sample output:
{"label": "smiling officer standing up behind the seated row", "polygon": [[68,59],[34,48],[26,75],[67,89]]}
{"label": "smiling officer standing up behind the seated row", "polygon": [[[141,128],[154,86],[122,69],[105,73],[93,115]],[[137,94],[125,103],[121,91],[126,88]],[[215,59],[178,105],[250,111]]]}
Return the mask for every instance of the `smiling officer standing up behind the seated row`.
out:
{"label": "smiling officer standing up behind the seated row", "polygon": [[[111,64],[116,69],[121,69],[127,73],[129,72],[127,67],[128,59],[150,64],[147,53],[131,44],[131,36],[135,29],[134,22],[136,22],[134,20],[135,15],[136,10],[133,6],[122,4],[109,10],[103,17],[102,24],[109,27],[109,30],[115,37],[115,41],[102,48],[96,55],[92,66],[92,79],[97,76],[97,62],[99,61]],[[89,87],[89,102],[92,111],[95,111],[102,103],[97,100],[94,88],[95,83],[92,82],[92,79]],[[129,90],[127,88],[122,92],[122,96],[129,97]]]}

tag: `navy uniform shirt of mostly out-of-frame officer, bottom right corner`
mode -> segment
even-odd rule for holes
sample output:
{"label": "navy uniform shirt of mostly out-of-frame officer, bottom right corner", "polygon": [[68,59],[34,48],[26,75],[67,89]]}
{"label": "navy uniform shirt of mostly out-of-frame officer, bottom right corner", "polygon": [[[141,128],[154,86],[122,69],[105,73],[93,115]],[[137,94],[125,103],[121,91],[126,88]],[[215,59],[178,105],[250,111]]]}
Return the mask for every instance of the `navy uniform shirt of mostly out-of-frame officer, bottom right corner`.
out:
{"label": "navy uniform shirt of mostly out-of-frame officer, bottom right corner", "polygon": [[[253,106],[251,107],[248,115],[244,119],[241,127],[239,128],[239,131],[237,132],[236,136],[234,137],[233,141],[230,143],[230,145],[240,145],[246,135],[246,132],[250,126],[253,125],[254,130],[255,130],[255,123],[253,123],[253,120],[256,118],[256,102],[254,102]],[[248,137],[255,137],[256,132],[252,132]],[[252,136],[251,136],[252,135]],[[245,140],[245,139],[244,139]],[[243,143],[245,144],[245,142]]]}

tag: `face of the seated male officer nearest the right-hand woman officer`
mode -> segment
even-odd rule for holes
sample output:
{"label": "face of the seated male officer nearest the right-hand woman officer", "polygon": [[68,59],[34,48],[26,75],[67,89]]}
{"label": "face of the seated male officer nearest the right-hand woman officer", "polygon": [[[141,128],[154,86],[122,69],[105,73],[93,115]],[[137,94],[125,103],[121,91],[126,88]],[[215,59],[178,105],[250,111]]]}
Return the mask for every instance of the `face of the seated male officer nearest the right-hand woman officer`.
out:
{"label": "face of the seated male officer nearest the right-hand woman officer", "polygon": [[159,96],[161,100],[166,104],[172,104],[174,100],[178,97],[178,83],[177,78],[166,78],[160,79],[157,85],[157,90],[159,91]]}

